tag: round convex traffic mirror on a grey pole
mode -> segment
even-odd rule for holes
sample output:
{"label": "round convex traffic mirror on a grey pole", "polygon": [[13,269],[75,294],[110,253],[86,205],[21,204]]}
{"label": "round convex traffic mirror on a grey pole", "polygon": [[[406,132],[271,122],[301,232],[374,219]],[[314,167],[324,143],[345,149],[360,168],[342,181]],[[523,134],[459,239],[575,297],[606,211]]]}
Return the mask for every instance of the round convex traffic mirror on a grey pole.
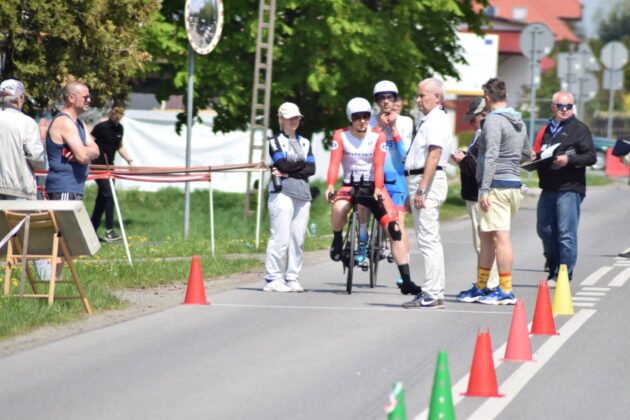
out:
{"label": "round convex traffic mirror on a grey pole", "polygon": [[186,33],[193,50],[210,54],[219,43],[223,29],[221,0],[186,0]]}

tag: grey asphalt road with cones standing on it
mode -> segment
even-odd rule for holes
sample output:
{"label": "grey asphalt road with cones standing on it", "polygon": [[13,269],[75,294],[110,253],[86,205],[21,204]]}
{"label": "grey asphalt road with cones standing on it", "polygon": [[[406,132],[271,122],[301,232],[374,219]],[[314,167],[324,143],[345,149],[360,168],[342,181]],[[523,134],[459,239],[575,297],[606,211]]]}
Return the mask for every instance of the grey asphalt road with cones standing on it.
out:
{"label": "grey asphalt road with cones standing on it", "polygon": [[[543,258],[536,198],[514,221],[514,291],[531,322]],[[475,280],[469,222],[445,223],[447,302],[405,310],[385,264],[380,284],[341,267],[303,268],[302,294],[263,293],[262,279],[0,359],[2,419],[382,419],[404,384],[408,418],[426,418],[439,350],[446,350],[458,418],[618,419],[630,399],[630,187],[590,189],[582,206],[573,316],[557,336],[531,336],[534,362],[501,362],[513,307],[461,304]],[[421,279],[414,244],[412,276]],[[502,398],[462,397],[477,339],[489,329]]]}

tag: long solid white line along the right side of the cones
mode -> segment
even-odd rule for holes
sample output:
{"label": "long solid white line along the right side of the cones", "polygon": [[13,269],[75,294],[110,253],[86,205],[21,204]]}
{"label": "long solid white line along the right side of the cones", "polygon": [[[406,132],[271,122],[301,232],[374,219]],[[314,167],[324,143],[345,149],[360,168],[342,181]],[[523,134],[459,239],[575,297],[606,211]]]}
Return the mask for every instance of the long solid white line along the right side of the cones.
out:
{"label": "long solid white line along the right side of the cones", "polygon": [[560,335],[550,336],[547,341],[533,354],[535,363],[523,363],[509,378],[507,378],[499,389],[505,393],[503,398],[488,398],[469,419],[494,419],[501,414],[503,409],[512,402],[525,385],[542,369],[543,366],[553,357],[564,343],[595,314],[595,310],[582,309],[576,313],[566,324],[562,326]]}

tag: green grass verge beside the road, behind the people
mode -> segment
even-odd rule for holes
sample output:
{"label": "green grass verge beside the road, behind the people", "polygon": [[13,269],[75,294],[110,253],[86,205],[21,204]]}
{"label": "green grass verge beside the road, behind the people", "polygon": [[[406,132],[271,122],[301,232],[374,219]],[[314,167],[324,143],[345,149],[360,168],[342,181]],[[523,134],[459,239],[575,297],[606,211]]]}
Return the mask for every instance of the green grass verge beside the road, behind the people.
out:
{"label": "green grass verge beside the road, behind the people", "polygon": [[[530,181],[536,186],[534,173]],[[587,182],[592,185],[606,185],[611,181],[606,177],[588,174]],[[330,206],[323,193],[324,182],[313,183],[321,195],[312,203],[311,220],[317,234],[307,236],[305,249],[326,249],[330,245]],[[466,214],[466,206],[461,199],[457,180],[449,185],[446,202],[440,210],[443,221]],[[91,213],[96,188],[88,186],[85,204]],[[116,296],[116,291],[134,288],[150,288],[159,284],[180,282],[185,284],[190,269],[190,256],[201,256],[202,270],[206,279],[229,273],[246,272],[260,268],[260,258],[264,253],[269,237],[269,217],[263,213],[260,246],[255,247],[255,215],[244,216],[243,195],[235,193],[214,193],[215,204],[215,246],[216,256],[211,256],[208,191],[191,193],[189,239],[183,239],[184,193],[175,188],[159,192],[125,190],[118,192],[118,199],[129,238],[133,266],[126,262],[122,242],[114,245],[103,244],[99,252],[90,258],[77,262],[79,277],[95,312],[122,308],[126,305]],[[266,202],[266,198],[265,198]],[[253,207],[255,208],[255,202]],[[264,206],[266,207],[266,206]],[[407,217],[407,227],[412,227],[411,217]],[[99,234],[103,234],[103,228]],[[232,254],[239,254],[234,258]],[[67,270],[66,270],[67,271]],[[64,277],[68,278],[66,272]],[[17,291],[19,271],[14,271],[12,292]],[[0,268],[0,286],[4,279],[4,268]],[[63,293],[64,287],[59,291]],[[27,290],[28,290],[27,286]],[[74,293],[72,293],[74,294]],[[183,297],[182,297],[183,299]],[[0,298],[0,338],[21,334],[37,327],[64,323],[85,317],[78,300],[57,301],[48,307],[45,300]]]}

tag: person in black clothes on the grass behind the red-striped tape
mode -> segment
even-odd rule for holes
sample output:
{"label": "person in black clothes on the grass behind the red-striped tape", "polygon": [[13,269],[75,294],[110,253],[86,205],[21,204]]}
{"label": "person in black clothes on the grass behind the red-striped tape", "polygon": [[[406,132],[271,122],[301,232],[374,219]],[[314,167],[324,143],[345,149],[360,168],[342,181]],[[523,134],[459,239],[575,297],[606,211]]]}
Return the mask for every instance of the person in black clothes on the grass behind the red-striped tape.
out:
{"label": "person in black clothes on the grass behind the red-striped tape", "polygon": [[[123,146],[124,128],[120,123],[124,110],[120,107],[114,107],[109,115],[107,121],[96,124],[92,130],[92,136],[101,151],[93,163],[97,165],[113,165],[116,152],[118,152],[131,165],[133,160]],[[105,213],[105,242],[119,241],[121,237],[114,231],[114,198],[109,179],[97,179],[96,184],[98,185],[98,194],[94,203],[94,211],[92,211],[92,226],[97,231],[101,224],[103,213]]]}

